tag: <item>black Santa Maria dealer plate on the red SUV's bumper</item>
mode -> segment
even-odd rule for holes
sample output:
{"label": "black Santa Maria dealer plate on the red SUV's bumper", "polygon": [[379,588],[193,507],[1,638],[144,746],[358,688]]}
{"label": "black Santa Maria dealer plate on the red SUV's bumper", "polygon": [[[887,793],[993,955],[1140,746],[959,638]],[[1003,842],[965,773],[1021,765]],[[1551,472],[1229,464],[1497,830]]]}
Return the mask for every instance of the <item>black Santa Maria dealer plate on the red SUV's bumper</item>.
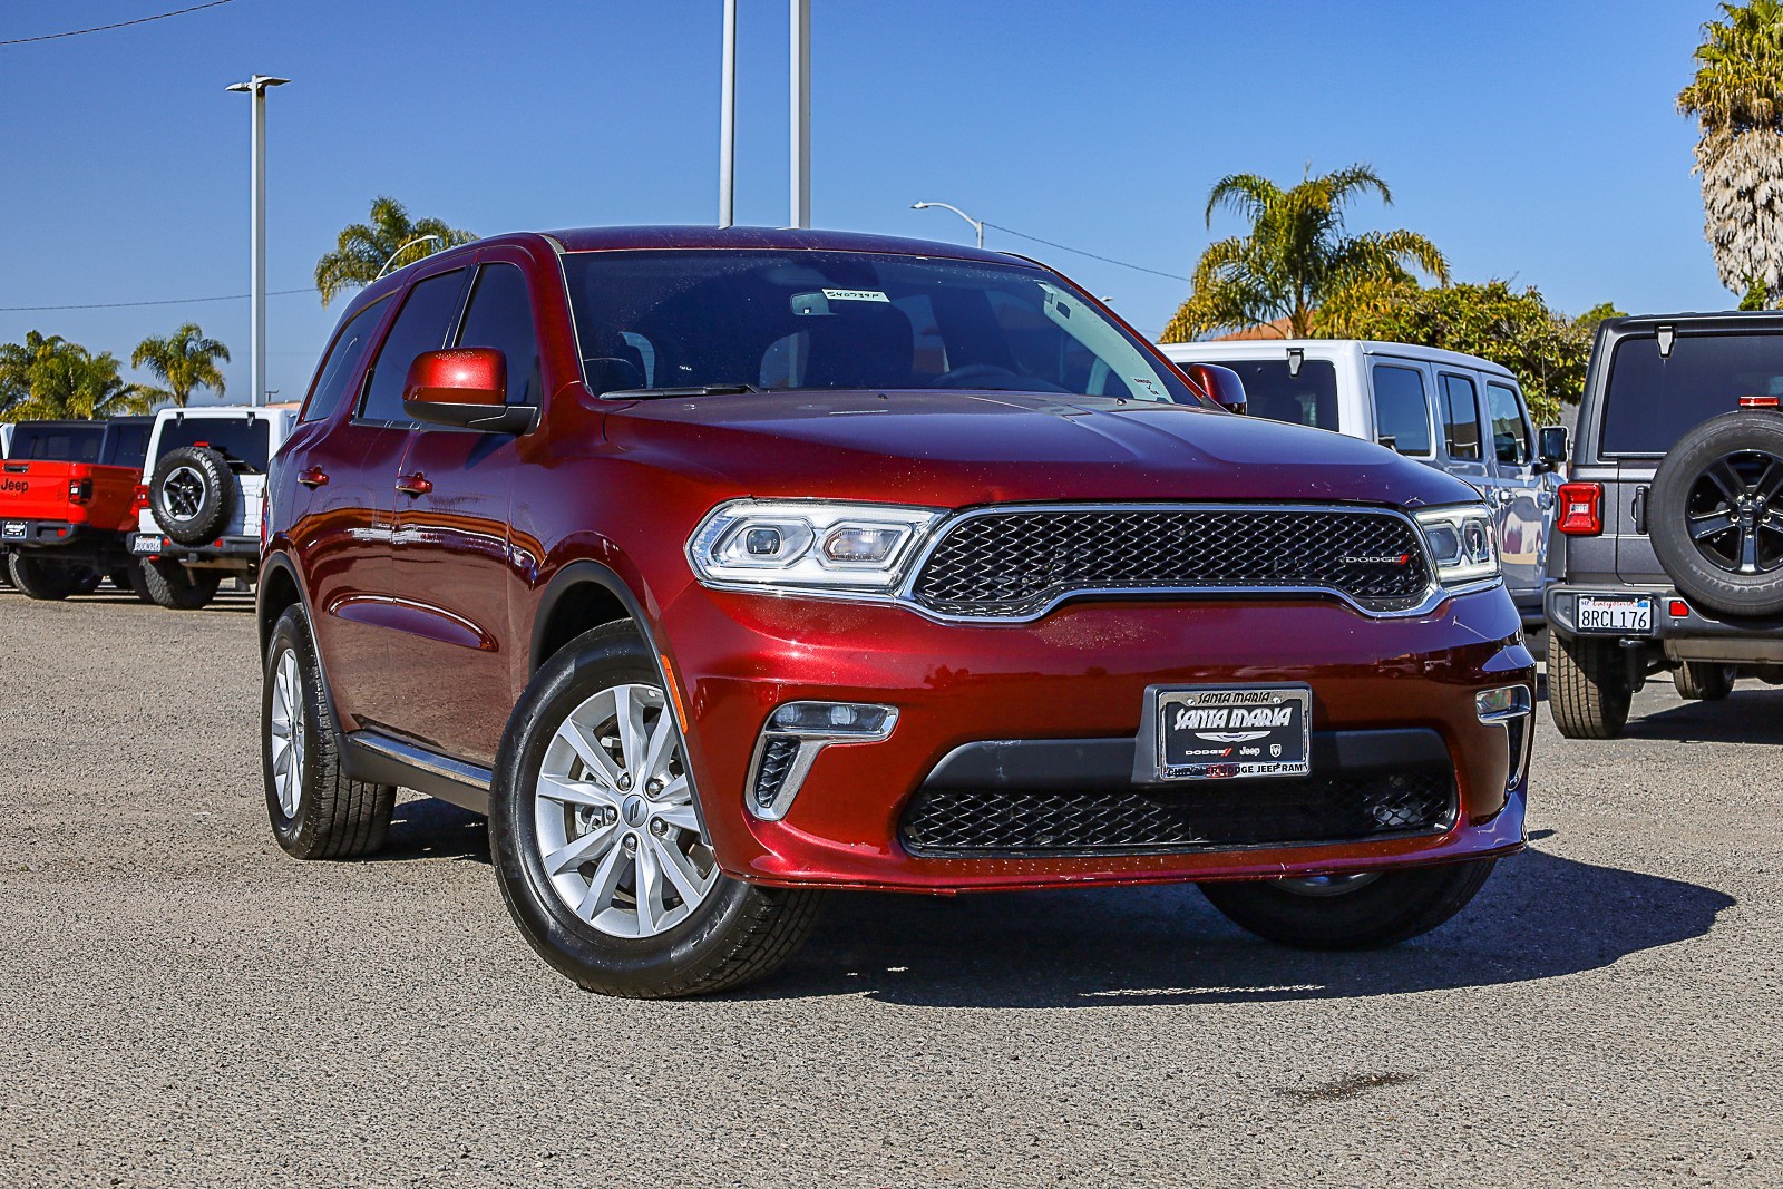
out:
{"label": "black Santa Maria dealer plate on the red SUV's bumper", "polygon": [[1307,775],[1312,690],[1193,686],[1157,690],[1157,779]]}

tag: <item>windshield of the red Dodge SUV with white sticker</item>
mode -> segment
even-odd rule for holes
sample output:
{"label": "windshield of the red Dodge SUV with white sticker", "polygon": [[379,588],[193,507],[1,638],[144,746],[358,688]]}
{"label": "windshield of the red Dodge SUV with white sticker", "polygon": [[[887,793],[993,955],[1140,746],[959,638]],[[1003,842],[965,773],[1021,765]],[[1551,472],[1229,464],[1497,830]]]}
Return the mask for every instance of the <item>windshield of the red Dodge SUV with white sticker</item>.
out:
{"label": "windshield of the red Dodge SUV with white sticker", "polygon": [[747,385],[1200,403],[1041,269],[722,250],[572,253],[563,271],[596,394]]}

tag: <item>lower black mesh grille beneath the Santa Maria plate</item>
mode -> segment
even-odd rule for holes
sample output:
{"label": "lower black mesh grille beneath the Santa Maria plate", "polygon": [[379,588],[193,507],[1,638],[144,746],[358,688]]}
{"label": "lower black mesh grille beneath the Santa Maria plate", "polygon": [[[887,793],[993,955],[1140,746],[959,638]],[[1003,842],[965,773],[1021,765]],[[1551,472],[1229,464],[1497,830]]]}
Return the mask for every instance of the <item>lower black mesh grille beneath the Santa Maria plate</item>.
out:
{"label": "lower black mesh grille beneath the Santa Maria plate", "polygon": [[1425,768],[1179,788],[924,788],[899,836],[918,856],[1170,854],[1428,834],[1455,820],[1455,781]]}

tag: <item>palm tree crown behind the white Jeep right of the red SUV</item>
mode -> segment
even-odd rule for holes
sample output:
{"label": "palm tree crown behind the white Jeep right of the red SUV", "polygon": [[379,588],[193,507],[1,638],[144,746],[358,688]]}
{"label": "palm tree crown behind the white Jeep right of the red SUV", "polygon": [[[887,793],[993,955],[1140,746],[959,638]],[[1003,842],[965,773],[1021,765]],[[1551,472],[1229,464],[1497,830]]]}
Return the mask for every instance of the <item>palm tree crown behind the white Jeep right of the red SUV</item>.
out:
{"label": "palm tree crown behind the white Jeep right of the red SUV", "polygon": [[1287,191],[1255,173],[1220,178],[1207,196],[1207,226],[1227,207],[1250,219],[1250,234],[1202,253],[1195,289],[1164,328],[1164,342],[1271,323],[1293,339],[1334,333],[1414,285],[1414,267],[1448,283],[1442,253],[1416,232],[1344,235],[1344,207],[1368,191],[1393,205],[1387,184],[1368,166],[1323,176],[1309,168]]}

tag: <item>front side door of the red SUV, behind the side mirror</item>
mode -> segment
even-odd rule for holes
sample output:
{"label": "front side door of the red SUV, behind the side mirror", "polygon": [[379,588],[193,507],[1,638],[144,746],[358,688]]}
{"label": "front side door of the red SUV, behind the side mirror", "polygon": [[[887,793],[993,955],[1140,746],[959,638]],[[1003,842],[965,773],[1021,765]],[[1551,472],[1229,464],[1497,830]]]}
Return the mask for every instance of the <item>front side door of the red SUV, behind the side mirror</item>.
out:
{"label": "front side door of the red SUV, behind the side mirror", "polygon": [[[538,332],[522,250],[485,251],[453,346],[494,348],[508,405],[542,405]],[[419,426],[396,506],[403,636],[390,674],[419,695],[392,722],[435,750],[492,765],[514,706],[508,506],[521,439]]]}

